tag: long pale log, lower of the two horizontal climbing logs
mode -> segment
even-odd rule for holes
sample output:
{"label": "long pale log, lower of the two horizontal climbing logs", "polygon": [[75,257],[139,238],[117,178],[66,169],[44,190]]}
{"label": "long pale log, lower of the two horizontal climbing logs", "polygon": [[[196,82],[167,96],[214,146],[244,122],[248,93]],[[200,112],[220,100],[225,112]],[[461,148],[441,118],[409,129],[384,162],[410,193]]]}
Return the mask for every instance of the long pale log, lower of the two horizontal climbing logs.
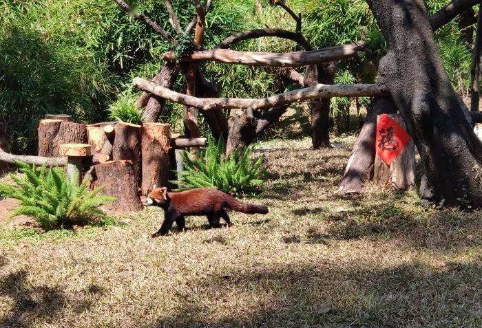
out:
{"label": "long pale log, lower of the two horizontal climbing logs", "polygon": [[324,85],[317,84],[312,87],[297,89],[284,92],[268,98],[250,99],[250,98],[196,98],[179,94],[176,91],[161,87],[156,83],[145,80],[143,78],[134,78],[134,85],[138,89],[149,91],[166,100],[177,102],[178,104],[197,107],[205,111],[216,109],[266,109],[280,105],[287,105],[291,102],[315,99],[319,97],[374,97],[385,94],[385,90],[376,84],[337,84]]}

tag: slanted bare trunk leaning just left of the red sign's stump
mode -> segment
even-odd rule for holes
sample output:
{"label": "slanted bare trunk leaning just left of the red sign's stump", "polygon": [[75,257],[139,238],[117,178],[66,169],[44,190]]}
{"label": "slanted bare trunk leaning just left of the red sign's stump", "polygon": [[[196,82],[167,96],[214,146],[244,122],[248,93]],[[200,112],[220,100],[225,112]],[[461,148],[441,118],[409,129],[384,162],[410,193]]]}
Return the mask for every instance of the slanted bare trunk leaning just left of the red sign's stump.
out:
{"label": "slanted bare trunk leaning just left of the red sign's stump", "polygon": [[377,116],[382,113],[396,113],[397,109],[390,98],[375,98],[368,107],[365,124],[346,164],[345,173],[339,183],[339,193],[362,193],[364,182],[370,177],[375,162],[375,135]]}

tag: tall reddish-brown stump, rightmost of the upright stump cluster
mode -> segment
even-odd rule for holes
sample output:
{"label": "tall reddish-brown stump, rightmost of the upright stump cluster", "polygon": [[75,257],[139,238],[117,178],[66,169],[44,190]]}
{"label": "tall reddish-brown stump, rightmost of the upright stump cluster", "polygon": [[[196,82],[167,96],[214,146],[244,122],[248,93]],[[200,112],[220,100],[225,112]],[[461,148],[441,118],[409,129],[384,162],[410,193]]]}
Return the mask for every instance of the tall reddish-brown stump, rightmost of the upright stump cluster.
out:
{"label": "tall reddish-brown stump, rightmost of the upright stump cluster", "polygon": [[142,194],[147,195],[154,184],[167,186],[169,182],[171,125],[145,122],[142,131]]}

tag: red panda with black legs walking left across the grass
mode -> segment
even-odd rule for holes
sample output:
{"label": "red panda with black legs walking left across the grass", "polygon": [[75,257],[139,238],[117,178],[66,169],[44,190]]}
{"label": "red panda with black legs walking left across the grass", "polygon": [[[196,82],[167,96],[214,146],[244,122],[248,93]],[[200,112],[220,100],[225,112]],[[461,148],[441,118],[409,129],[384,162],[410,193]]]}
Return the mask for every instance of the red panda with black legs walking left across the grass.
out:
{"label": "red panda with black legs walking left across the grass", "polygon": [[168,193],[167,188],[155,188],[149,193],[146,206],[159,206],[164,209],[164,221],[159,231],[152,237],[169,232],[174,221],[180,230],[185,228],[185,216],[207,215],[209,226],[219,226],[220,217],[231,225],[226,210],[236,210],[247,214],[266,214],[268,208],[262,205],[245,204],[222,191],[198,188],[180,193]]}

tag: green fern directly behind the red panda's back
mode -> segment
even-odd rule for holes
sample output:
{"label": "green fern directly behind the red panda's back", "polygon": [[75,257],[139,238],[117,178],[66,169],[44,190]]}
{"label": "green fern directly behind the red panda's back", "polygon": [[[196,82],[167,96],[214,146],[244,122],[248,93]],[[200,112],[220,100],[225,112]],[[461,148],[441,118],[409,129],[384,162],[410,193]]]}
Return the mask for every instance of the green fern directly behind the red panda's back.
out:
{"label": "green fern directly behind the red panda's back", "polygon": [[218,142],[208,138],[207,149],[201,151],[199,160],[190,159],[182,153],[185,171],[180,172],[180,180],[174,181],[179,188],[176,191],[192,188],[216,188],[231,195],[255,193],[263,184],[266,171],[261,168],[262,157],[252,160],[251,147],[242,152],[234,151],[226,158],[226,147],[222,136]]}

